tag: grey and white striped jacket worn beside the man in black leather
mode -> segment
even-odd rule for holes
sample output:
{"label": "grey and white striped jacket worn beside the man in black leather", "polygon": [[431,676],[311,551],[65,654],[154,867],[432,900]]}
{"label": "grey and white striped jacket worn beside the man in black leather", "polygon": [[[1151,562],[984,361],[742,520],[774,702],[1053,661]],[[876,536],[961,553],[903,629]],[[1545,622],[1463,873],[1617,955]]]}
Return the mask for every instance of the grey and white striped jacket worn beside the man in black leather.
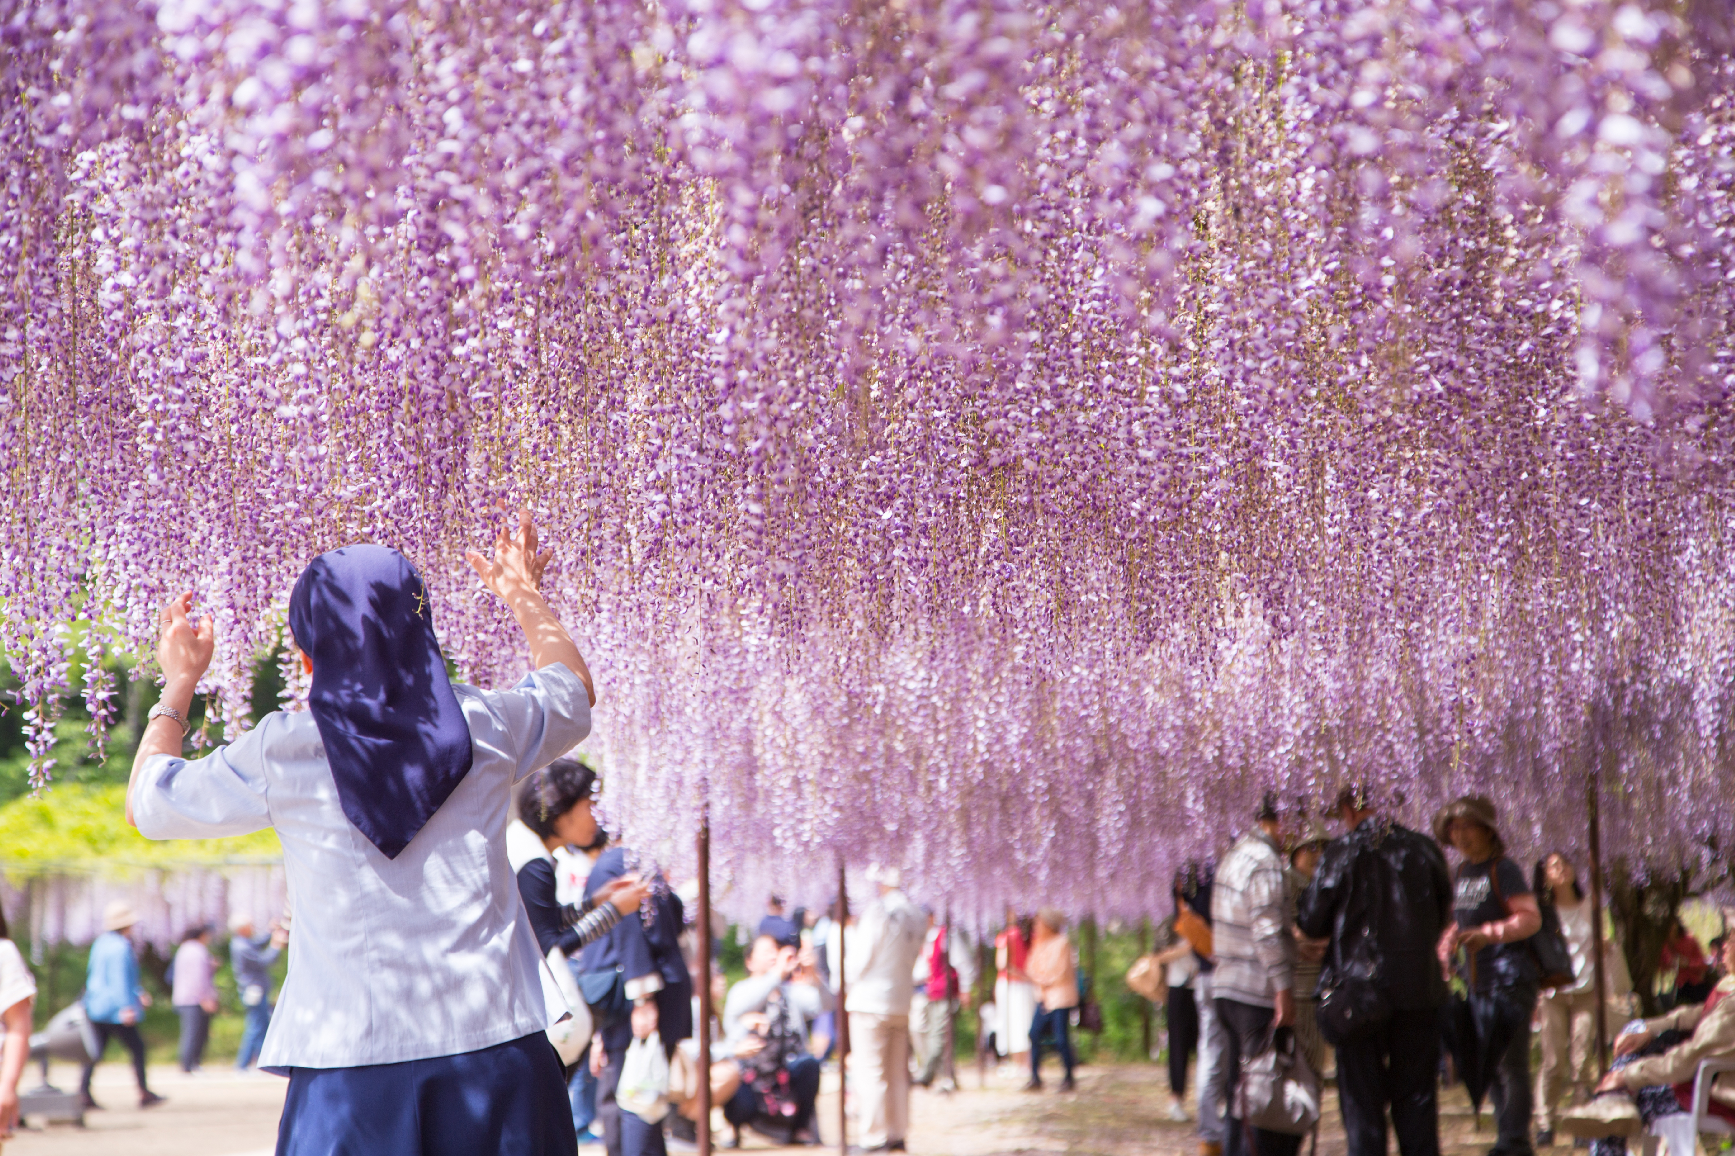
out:
{"label": "grey and white striped jacket worn beside the man in black leather", "polygon": [[1254,828],[1216,868],[1211,889],[1211,995],[1272,1007],[1294,988],[1296,946],[1277,841]]}

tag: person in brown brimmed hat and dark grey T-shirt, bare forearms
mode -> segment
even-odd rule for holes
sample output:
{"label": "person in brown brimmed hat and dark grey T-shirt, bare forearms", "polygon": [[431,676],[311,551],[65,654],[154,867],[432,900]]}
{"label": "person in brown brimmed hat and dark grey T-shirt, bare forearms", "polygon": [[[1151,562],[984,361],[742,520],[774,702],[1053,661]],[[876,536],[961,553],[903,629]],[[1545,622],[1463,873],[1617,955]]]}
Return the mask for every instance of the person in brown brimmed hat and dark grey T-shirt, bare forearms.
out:
{"label": "person in brown brimmed hat and dark grey T-shirt, bare forearms", "polygon": [[1440,964],[1449,965],[1463,951],[1476,1029],[1509,1033],[1490,1085],[1497,1139],[1489,1156],[1532,1156],[1530,1016],[1539,974],[1525,939],[1542,929],[1542,912],[1523,868],[1506,856],[1489,799],[1454,799],[1435,816],[1433,834],[1461,856],[1452,896],[1456,919],[1440,936]]}

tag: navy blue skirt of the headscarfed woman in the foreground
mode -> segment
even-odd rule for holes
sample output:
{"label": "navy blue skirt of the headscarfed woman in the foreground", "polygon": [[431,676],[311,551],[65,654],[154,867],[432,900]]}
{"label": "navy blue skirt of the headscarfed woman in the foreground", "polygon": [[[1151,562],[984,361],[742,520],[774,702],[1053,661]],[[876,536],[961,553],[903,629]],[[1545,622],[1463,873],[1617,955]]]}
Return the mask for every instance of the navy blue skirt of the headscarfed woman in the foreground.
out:
{"label": "navy blue skirt of the headscarfed woman in the foreground", "polygon": [[573,1156],[560,1071],[540,1031],[462,1055],[291,1068],[278,1156]]}

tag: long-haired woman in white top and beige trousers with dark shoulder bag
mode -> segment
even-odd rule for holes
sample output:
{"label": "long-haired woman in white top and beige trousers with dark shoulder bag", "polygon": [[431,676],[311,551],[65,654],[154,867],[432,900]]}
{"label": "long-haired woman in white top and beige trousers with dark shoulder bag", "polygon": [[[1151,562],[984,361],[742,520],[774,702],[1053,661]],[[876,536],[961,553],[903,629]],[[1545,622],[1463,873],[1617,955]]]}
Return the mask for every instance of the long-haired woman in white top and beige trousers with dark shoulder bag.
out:
{"label": "long-haired woman in white top and beige trousers with dark shoulder bag", "polygon": [[[1542,993],[1542,1068],[1535,1073],[1535,1144],[1555,1142],[1555,1116],[1562,1094],[1572,1102],[1591,1097],[1596,1083],[1596,936],[1591,901],[1579,886],[1579,872],[1560,851],[1537,860],[1532,877],[1544,925],[1553,922],[1567,941],[1572,983]],[[1633,979],[1626,953],[1612,934],[1603,936],[1605,1021],[1626,1023]]]}

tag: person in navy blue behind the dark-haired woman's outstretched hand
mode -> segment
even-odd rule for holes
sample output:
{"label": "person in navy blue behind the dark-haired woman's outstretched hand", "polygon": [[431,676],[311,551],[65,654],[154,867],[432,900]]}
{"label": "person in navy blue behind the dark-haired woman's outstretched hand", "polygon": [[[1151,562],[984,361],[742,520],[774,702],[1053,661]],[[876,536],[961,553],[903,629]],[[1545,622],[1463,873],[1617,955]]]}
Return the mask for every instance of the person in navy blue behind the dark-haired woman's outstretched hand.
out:
{"label": "person in navy blue behind the dark-haired woman's outstretched hand", "polygon": [[[585,880],[585,898],[595,899],[604,887],[626,875],[626,863],[625,848],[604,851],[590,868],[590,879]],[[656,1002],[658,1036],[671,1057],[675,1045],[692,1035],[692,977],[680,953],[684,915],[680,898],[666,884],[654,886],[640,915],[623,919],[579,957],[583,972],[618,971],[628,1003]],[[602,1142],[609,1156],[663,1156],[666,1153],[663,1130],[647,1125],[633,1113],[621,1111],[614,1099],[621,1081],[621,1064],[633,1042],[630,1017],[599,1023],[597,1036],[604,1057],[602,1069],[597,1071],[597,1120],[602,1121]],[[593,1055],[595,1047],[592,1043]]]}

